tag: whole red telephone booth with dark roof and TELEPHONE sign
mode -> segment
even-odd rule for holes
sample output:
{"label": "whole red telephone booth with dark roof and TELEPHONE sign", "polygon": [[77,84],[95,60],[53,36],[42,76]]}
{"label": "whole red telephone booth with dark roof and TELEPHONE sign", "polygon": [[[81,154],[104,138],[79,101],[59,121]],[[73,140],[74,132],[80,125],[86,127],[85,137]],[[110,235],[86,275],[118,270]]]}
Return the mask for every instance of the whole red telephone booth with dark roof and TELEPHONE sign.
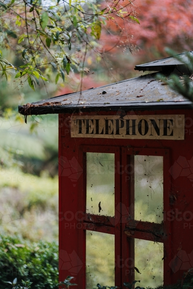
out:
{"label": "whole red telephone booth with dark roof and TELEPHONE sign", "polygon": [[59,114],[59,279],[80,289],[155,288],[193,267],[192,103],[156,77],[190,71],[135,69],[156,72],[19,106]]}

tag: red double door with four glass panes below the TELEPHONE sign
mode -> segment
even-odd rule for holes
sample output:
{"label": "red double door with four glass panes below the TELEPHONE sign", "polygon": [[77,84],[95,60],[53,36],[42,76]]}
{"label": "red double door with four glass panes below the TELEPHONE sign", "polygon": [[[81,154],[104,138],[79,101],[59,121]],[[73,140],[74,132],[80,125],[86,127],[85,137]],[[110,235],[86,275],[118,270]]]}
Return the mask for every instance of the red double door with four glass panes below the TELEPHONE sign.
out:
{"label": "red double door with four glass panes below the TELEPHONE sign", "polygon": [[170,283],[169,151],[80,146],[79,163],[80,288]]}

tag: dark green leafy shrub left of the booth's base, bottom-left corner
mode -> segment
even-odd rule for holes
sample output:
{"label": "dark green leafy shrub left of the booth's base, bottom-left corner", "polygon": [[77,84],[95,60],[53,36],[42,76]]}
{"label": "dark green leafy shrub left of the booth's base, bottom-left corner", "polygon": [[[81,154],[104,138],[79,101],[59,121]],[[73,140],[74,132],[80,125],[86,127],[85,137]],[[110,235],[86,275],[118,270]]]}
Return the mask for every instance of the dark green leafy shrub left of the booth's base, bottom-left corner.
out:
{"label": "dark green leafy shrub left of the booth's base, bottom-left corner", "polygon": [[3,281],[30,279],[33,288],[58,288],[58,245],[45,241],[30,243],[0,236],[0,289],[12,288]]}

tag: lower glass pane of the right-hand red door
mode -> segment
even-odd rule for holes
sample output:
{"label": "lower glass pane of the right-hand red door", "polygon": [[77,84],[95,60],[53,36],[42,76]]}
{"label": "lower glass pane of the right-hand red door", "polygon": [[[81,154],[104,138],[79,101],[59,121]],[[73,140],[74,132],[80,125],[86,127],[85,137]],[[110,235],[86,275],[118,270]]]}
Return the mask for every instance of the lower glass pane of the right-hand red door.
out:
{"label": "lower glass pane of the right-hand red door", "polygon": [[[133,239],[134,240],[134,239]],[[157,288],[163,284],[163,243],[135,239],[135,280],[141,287]]]}

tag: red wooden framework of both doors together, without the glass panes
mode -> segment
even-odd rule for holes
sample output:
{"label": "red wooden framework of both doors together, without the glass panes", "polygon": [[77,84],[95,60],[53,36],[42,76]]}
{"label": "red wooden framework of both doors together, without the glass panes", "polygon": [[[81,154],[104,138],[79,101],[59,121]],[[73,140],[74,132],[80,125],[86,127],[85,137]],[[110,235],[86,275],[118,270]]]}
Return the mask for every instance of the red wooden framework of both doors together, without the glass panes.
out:
{"label": "red wooden framework of both doors together, without the glass panes", "polygon": [[[101,215],[86,213],[86,153],[114,153],[115,154],[115,217],[106,217]],[[158,228],[163,228],[163,237],[156,238],[151,233],[154,223],[137,222],[137,231],[132,231],[132,237],[126,235],[124,229],[128,224],[128,212],[125,208],[132,208],[134,204],[134,182],[128,180],[128,173],[125,170],[126,166],[133,164],[134,155],[159,155],[163,156],[163,211],[164,222],[157,225]],[[83,174],[78,179],[78,210],[84,212],[82,218],[82,229],[78,230],[78,256],[82,260],[83,266],[78,273],[78,286],[81,289],[86,288],[86,230],[98,231],[102,233],[115,235],[115,285],[123,288],[123,283],[126,281],[133,281],[134,274],[132,266],[128,264],[131,270],[129,274],[125,274],[124,264],[127,260],[134,259],[134,247],[132,238],[140,238],[144,240],[151,240],[163,242],[164,244],[164,285],[171,283],[171,269],[169,267],[169,260],[171,258],[171,229],[170,222],[166,221],[165,212],[170,210],[170,156],[168,149],[147,149],[147,148],[120,148],[113,146],[88,146],[80,145],[78,149],[78,163],[83,168]],[[134,174],[132,175],[134,179]],[[131,178],[132,179],[132,178]],[[130,210],[130,209],[129,209]],[[132,216],[132,212],[129,212]],[[102,224],[99,226],[99,224]],[[145,230],[144,230],[145,229]],[[152,229],[153,230],[153,229]],[[129,230],[128,230],[129,232]],[[167,253],[166,253],[167,252]],[[127,260],[126,260],[127,259]],[[130,267],[129,267],[130,266]],[[128,270],[127,270],[128,271]]]}

